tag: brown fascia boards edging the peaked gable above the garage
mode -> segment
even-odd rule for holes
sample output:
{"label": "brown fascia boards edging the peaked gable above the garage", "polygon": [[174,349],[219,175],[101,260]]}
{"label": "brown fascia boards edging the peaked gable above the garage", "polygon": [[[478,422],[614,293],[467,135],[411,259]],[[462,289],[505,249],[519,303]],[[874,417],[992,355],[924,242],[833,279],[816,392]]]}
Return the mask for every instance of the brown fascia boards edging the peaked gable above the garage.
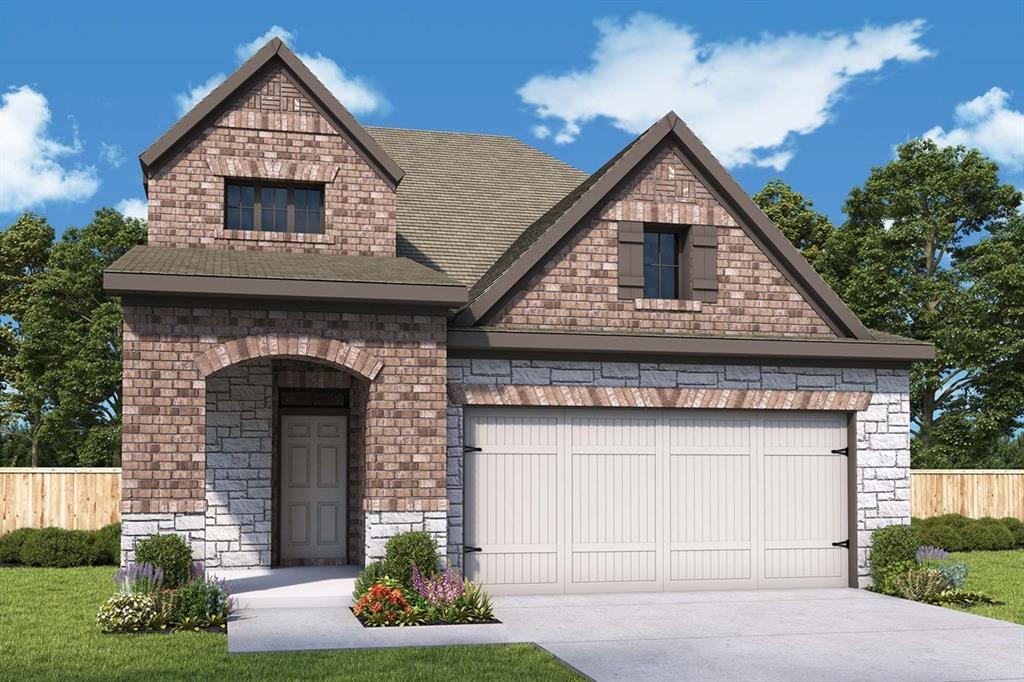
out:
{"label": "brown fascia boards edging the peaked gable above the garage", "polygon": [[697,179],[715,195],[719,203],[735,212],[740,226],[745,226],[748,232],[753,232],[751,237],[755,243],[833,331],[839,336],[871,340],[873,337],[867,328],[814,271],[800,251],[790,243],[754,200],[748,197],[675,112],[667,114],[644,133],[642,139],[584,193],[580,200],[498,276],[486,291],[460,311],[453,324],[457,327],[471,327],[483,319],[523,278],[543,262],[572,228],[672,135],[676,137],[680,153],[690,163]]}

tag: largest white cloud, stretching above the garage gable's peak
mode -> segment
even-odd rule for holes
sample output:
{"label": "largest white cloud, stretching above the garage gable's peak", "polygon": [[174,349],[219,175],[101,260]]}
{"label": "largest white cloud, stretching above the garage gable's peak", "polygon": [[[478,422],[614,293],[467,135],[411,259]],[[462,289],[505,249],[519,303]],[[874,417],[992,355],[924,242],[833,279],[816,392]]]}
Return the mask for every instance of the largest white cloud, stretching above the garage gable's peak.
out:
{"label": "largest white cloud, stretching above the garage gable's peak", "polygon": [[691,29],[645,13],[597,28],[587,69],[535,76],[519,89],[538,116],[560,120],[557,143],[599,117],[635,134],[675,111],[727,166],[776,170],[793,158],[797,135],[829,120],[855,77],[933,54],[919,42],[921,20],[726,43],[701,42]]}

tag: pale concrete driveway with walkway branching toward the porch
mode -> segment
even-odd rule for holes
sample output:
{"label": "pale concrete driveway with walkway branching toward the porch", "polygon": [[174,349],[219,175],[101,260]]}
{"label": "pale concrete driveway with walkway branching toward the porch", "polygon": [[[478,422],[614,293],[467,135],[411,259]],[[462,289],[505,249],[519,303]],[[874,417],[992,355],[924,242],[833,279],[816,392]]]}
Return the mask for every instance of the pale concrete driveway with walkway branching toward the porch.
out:
{"label": "pale concrete driveway with walkway branching toward the porch", "polygon": [[246,609],[228,650],[537,642],[596,680],[1024,680],[1024,627],[862,590],[496,597],[501,625]]}

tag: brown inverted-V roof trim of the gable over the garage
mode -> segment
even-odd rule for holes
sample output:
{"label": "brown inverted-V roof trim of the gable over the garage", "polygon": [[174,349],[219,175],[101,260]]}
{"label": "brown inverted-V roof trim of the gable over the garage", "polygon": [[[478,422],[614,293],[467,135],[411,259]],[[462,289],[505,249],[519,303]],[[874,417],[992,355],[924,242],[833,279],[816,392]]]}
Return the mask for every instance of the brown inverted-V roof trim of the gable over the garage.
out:
{"label": "brown inverted-V roof trim of the gable over the garage", "polygon": [[662,147],[672,144],[697,180],[736,219],[751,240],[841,337],[871,339],[840,297],[742,190],[693,132],[674,113],[641,133],[562,201],[530,225],[470,292],[471,303],[456,317],[472,326],[493,311],[585,218]]}

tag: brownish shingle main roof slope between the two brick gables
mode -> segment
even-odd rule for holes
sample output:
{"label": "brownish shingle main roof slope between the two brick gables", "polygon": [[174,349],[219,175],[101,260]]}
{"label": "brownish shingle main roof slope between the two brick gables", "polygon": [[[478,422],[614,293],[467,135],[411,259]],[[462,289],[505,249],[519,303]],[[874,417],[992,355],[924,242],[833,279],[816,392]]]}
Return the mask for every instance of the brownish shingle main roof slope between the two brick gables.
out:
{"label": "brownish shingle main roof slope between the two brick gables", "polygon": [[513,137],[367,130],[406,171],[398,185],[398,255],[467,287],[587,178]]}

